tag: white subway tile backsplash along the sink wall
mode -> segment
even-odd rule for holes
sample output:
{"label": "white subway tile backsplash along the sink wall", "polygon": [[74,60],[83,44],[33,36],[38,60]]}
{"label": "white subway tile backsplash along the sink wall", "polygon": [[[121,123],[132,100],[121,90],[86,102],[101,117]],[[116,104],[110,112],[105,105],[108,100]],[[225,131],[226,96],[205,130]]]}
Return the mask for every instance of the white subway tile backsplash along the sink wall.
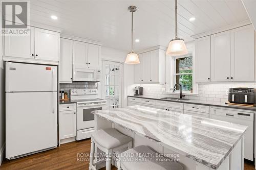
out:
{"label": "white subway tile backsplash along the sink wall", "polygon": [[[141,84],[143,87],[143,94],[149,95],[156,98],[178,98],[177,94],[166,94],[165,93],[165,85],[159,84]],[[255,83],[239,83],[239,84],[198,84],[198,95],[186,95],[184,99],[193,99],[193,100],[201,100],[201,101],[214,101],[214,102],[227,102],[228,95],[226,91],[230,87],[248,87],[248,88],[256,88]]]}

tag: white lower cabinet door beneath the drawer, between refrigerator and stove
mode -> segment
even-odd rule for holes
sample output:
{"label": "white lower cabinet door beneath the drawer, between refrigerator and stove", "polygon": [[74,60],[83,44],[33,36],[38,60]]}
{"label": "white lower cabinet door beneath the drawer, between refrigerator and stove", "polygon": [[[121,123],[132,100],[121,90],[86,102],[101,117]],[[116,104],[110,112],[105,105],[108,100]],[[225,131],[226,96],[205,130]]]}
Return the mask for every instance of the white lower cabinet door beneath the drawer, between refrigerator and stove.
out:
{"label": "white lower cabinet door beneath the drawer, between refrigerator and stove", "polygon": [[76,111],[59,112],[59,138],[66,139],[76,136]]}

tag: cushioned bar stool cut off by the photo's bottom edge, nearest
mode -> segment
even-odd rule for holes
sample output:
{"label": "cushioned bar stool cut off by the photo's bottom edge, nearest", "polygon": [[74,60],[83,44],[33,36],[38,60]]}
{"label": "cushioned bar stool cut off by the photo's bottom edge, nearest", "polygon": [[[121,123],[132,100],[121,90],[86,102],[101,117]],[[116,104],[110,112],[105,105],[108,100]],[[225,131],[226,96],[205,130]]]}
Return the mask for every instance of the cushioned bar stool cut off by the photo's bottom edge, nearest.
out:
{"label": "cushioned bar stool cut off by the photo's bottom edge, nearest", "polygon": [[[117,156],[118,170],[121,170],[121,169],[123,170],[133,170],[133,169],[182,170],[183,169],[182,165],[178,162],[157,161],[156,159],[160,160],[160,159],[163,159],[164,157],[160,155],[156,156],[156,154],[157,154],[156,152],[152,151],[150,148],[148,148],[145,145],[139,145],[138,147],[129,149]],[[138,157],[138,155],[140,155],[140,157]],[[140,160],[143,159],[147,161],[138,161],[139,159]]]}

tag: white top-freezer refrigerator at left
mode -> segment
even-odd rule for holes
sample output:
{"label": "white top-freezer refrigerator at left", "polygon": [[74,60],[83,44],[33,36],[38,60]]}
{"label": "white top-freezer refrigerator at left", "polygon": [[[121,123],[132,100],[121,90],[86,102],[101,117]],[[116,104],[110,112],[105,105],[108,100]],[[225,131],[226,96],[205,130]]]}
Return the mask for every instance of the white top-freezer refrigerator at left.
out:
{"label": "white top-freezer refrigerator at left", "polygon": [[6,62],[6,158],[57,147],[57,66]]}

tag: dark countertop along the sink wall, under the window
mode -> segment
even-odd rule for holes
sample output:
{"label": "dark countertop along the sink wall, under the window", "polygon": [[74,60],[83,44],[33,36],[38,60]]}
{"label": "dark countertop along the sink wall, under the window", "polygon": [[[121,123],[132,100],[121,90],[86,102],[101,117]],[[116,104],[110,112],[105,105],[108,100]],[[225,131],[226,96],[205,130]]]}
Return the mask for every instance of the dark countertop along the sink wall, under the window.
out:
{"label": "dark countertop along the sink wall, under the window", "polygon": [[244,110],[256,111],[256,107],[228,105],[228,104],[225,104],[224,102],[211,102],[211,101],[199,101],[199,100],[174,101],[174,100],[155,98],[155,97],[147,96],[147,95],[128,95],[128,96],[133,97],[133,98],[143,98],[143,99],[152,99],[152,100],[187,103],[187,104],[198,104],[198,105],[206,105],[206,106],[219,106],[219,107],[227,107],[227,108],[232,108],[232,109],[244,109]]}

